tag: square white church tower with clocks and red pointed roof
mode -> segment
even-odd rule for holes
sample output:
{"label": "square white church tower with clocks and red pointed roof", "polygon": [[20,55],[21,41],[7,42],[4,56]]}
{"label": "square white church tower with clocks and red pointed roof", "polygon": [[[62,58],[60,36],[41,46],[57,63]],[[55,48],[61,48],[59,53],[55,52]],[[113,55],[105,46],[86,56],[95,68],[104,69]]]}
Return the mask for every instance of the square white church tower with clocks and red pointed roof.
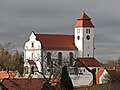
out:
{"label": "square white church tower with clocks and red pointed roof", "polygon": [[74,41],[78,48],[78,58],[94,57],[94,25],[85,12],[74,25]]}

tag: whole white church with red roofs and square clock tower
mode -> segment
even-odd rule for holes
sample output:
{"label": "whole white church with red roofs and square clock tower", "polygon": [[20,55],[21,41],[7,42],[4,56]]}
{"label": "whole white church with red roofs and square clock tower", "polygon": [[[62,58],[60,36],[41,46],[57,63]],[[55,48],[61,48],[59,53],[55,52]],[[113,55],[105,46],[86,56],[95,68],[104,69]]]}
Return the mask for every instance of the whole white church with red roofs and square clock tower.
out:
{"label": "whole white church with red roofs and square clock tower", "polygon": [[84,67],[75,69],[73,57],[90,69],[96,69],[96,72],[100,69],[100,63],[94,57],[94,27],[91,18],[83,12],[73,26],[73,35],[31,32],[24,44],[24,77],[31,75],[32,78],[41,78],[41,74],[36,71],[48,75],[47,70],[52,62],[60,69],[64,65],[68,66],[74,86],[89,85],[92,74]]}

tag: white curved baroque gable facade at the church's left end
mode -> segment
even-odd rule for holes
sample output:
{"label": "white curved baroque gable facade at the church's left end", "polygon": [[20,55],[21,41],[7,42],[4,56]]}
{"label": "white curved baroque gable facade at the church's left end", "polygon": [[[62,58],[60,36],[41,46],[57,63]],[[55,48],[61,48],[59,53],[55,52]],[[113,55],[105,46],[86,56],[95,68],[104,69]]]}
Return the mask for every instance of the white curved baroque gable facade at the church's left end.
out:
{"label": "white curved baroque gable facade at the church's left end", "polygon": [[[32,43],[34,43],[33,47]],[[29,40],[25,43],[24,46],[24,62],[27,62],[27,59],[34,60],[38,70],[41,71],[41,43],[40,41],[36,40],[36,36],[33,32],[29,36]]]}

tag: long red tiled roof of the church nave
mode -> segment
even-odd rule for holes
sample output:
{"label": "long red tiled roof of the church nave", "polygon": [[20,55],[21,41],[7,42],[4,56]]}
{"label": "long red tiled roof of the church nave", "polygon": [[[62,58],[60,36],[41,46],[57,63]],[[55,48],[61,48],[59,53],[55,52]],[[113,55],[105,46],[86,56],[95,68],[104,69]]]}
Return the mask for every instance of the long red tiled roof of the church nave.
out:
{"label": "long red tiled roof of the church nave", "polygon": [[76,50],[73,35],[35,34],[47,50]]}

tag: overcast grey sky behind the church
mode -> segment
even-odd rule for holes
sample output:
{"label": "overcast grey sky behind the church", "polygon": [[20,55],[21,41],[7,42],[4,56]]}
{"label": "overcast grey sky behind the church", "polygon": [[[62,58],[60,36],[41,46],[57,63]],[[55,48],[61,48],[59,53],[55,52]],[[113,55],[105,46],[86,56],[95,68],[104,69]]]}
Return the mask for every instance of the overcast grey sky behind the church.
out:
{"label": "overcast grey sky behind the church", "polygon": [[82,11],[95,25],[95,57],[120,56],[119,0],[0,0],[0,42],[12,42],[20,51],[31,31],[73,34]]}

